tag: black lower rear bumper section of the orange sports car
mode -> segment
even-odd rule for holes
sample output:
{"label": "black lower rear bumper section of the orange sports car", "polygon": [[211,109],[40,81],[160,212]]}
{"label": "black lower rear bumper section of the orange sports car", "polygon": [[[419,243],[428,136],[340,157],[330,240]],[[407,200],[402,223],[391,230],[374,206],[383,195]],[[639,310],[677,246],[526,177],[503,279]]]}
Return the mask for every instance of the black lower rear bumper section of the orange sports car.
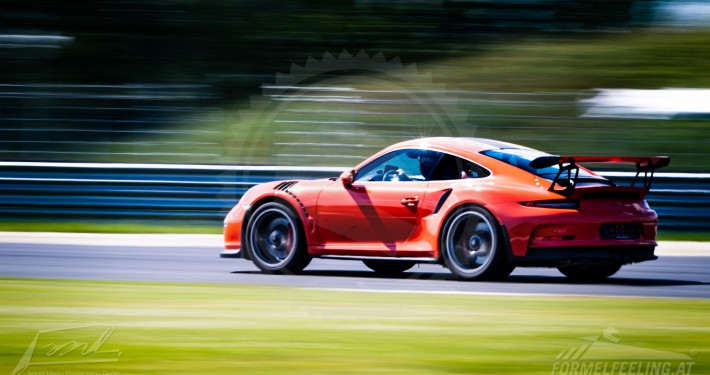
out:
{"label": "black lower rear bumper section of the orange sports car", "polygon": [[513,256],[519,266],[558,267],[567,265],[629,264],[658,259],[656,246],[591,246],[530,248],[525,256]]}

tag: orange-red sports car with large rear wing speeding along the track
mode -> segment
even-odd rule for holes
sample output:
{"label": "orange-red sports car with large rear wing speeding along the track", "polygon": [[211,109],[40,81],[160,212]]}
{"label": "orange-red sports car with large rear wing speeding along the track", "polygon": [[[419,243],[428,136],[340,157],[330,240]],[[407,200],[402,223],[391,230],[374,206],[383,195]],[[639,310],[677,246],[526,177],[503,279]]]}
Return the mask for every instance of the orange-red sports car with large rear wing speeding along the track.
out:
{"label": "orange-red sports car with large rear wing speeding along the track", "polygon": [[[580,163],[631,163],[631,186]],[[515,267],[574,279],[656,259],[658,217],[645,201],[668,157],[554,156],[480,138],[392,145],[339,178],[254,186],[224,220],[225,258],[269,273],[312,258],[361,260],[380,273],[440,263],[464,280]]]}

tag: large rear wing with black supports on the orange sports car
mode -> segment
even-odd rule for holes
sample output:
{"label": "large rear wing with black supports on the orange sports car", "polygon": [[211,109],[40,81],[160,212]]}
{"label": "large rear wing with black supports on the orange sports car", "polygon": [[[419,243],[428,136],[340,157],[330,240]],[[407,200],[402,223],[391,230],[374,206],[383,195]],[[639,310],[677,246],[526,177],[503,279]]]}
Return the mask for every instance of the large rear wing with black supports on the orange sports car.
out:
{"label": "large rear wing with black supports on the orange sports car", "polygon": [[[547,168],[559,165],[557,176],[552,180],[552,185],[548,190],[569,197],[574,193],[579,178],[579,166],[577,163],[623,163],[635,164],[636,176],[631,182],[631,187],[636,185],[639,177],[643,174],[643,188],[646,191],[651,189],[653,183],[653,173],[656,169],[668,166],[671,158],[668,156],[541,156],[530,162],[530,166],[535,169]],[[556,188],[560,186],[561,188]]]}

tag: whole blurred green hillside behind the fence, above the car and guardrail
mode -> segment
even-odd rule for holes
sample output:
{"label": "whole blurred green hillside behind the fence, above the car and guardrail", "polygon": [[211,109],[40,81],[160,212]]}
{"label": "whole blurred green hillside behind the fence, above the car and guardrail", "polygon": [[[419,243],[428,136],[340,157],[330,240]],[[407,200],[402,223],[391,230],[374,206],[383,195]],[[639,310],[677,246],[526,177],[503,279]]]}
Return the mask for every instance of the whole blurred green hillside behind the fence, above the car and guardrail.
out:
{"label": "whole blurred green hillside behind the fence, above the car and guardrail", "polygon": [[[200,159],[207,163],[352,166],[404,139],[478,136],[560,154],[669,155],[667,171],[703,172],[710,165],[707,118],[583,117],[586,108],[578,100],[591,97],[595,88],[710,87],[710,50],[703,47],[708,44],[710,33],[704,31],[499,40],[465,57],[420,64],[418,70],[392,63],[388,73],[396,82],[411,83],[394,87],[400,91],[377,93],[392,87],[376,76],[318,82],[370,90],[332,95],[398,104],[275,102],[263,96],[191,121],[187,127],[198,124],[211,132],[169,138],[183,143],[166,144],[165,150],[212,154]],[[451,94],[432,94],[442,88]],[[299,94],[324,95],[307,89]],[[453,114],[427,106],[439,101],[457,103]],[[333,122],[345,125],[322,124]]]}

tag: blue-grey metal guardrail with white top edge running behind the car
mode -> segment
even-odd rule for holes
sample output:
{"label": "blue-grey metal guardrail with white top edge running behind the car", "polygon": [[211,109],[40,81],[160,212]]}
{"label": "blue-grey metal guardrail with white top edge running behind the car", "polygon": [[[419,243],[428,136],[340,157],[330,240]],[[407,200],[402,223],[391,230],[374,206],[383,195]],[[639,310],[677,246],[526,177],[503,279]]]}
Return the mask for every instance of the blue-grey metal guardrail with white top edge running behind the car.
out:
{"label": "blue-grey metal guardrail with white top edge running behind the car", "polygon": [[[0,162],[0,218],[219,225],[251,186],[338,176],[342,168]],[[604,172],[630,181],[632,173]],[[710,229],[710,174],[657,173],[660,230]]]}

